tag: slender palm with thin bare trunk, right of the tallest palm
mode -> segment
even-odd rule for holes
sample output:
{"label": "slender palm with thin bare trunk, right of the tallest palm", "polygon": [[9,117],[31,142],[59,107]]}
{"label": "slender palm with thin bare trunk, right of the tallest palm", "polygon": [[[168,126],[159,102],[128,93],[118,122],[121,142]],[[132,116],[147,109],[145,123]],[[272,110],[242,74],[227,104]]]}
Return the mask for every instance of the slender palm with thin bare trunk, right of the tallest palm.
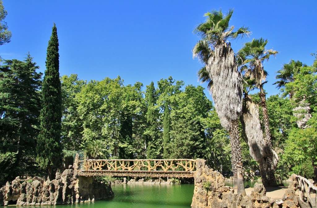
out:
{"label": "slender palm with thin bare trunk, right of the tallest palm", "polygon": [[[237,53],[237,59],[239,64],[242,65],[241,69],[244,71],[244,76],[254,80],[255,86],[260,90],[261,106],[263,111],[264,120],[264,133],[265,133],[265,155],[263,160],[260,162],[260,166],[267,168],[268,181],[266,177],[262,177],[264,185],[276,185],[275,180],[275,167],[278,161],[277,154],[272,149],[271,142],[271,132],[268,122],[268,108],[266,106],[266,95],[263,89],[263,85],[266,83],[265,79],[268,75],[267,71],[264,70],[263,62],[268,60],[271,55],[275,56],[278,52],[276,50],[265,50],[265,46],[268,40],[264,40],[262,37],[260,39],[253,39],[251,42],[244,44],[243,48]],[[248,105],[249,107],[255,107],[253,105]],[[261,132],[258,132],[259,134]],[[263,171],[262,171],[263,172]]]}

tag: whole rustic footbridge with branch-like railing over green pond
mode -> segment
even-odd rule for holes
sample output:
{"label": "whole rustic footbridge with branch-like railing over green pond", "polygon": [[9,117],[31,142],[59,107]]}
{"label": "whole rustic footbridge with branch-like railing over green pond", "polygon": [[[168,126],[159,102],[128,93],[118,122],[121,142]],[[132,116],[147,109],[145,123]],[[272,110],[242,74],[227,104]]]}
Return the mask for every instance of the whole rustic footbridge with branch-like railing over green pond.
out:
{"label": "whole rustic footbridge with branch-like railing over green pond", "polygon": [[79,161],[80,176],[193,178],[194,159],[86,159]]}

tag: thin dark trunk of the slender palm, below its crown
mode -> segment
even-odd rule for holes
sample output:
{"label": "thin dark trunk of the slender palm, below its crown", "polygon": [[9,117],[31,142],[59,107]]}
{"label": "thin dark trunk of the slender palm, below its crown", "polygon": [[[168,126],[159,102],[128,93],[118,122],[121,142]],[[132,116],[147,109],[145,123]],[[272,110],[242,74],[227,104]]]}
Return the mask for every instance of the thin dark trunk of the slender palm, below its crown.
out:
{"label": "thin dark trunk of the slender palm, below its crown", "polygon": [[268,183],[270,185],[276,185],[275,165],[273,162],[275,155],[273,154],[273,149],[272,149],[271,132],[270,132],[270,126],[268,122],[268,108],[266,105],[265,92],[263,90],[262,85],[260,86],[260,98],[261,98],[261,106],[262,106],[263,120],[264,120],[264,133],[265,133],[264,139],[266,143],[266,154],[268,157],[267,158],[268,159],[268,164],[267,164]]}

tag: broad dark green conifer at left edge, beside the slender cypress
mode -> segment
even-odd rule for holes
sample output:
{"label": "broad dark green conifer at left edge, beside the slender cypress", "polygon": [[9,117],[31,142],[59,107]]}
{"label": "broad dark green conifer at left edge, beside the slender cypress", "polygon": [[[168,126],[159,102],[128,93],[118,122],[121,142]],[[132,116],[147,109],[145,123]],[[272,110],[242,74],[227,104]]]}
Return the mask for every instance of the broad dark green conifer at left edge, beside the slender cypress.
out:
{"label": "broad dark green conifer at left edge, beside the slender cypress", "polygon": [[7,180],[12,180],[20,174],[37,172],[34,161],[42,73],[36,73],[39,67],[29,54],[24,61],[4,63],[0,68],[0,154],[3,161],[12,161],[10,170],[4,168],[0,174],[5,171]]}

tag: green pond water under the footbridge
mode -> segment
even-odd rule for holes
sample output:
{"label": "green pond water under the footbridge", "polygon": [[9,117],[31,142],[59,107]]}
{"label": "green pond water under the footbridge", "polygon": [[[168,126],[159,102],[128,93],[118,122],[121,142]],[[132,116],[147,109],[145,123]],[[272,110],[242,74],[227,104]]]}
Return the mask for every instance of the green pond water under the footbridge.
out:
{"label": "green pond water under the footbridge", "polygon": [[[244,186],[248,184],[253,187],[256,182],[244,182]],[[232,186],[231,182],[225,184]],[[113,198],[96,200],[94,203],[41,208],[190,208],[194,185],[114,184],[112,190]]]}

